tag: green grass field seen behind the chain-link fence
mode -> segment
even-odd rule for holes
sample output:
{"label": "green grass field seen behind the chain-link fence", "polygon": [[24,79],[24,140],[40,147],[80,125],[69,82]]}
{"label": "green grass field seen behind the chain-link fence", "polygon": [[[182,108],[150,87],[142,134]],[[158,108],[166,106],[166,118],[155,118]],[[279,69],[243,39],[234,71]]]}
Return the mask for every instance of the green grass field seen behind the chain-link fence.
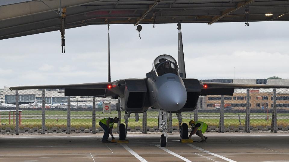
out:
{"label": "green grass field seen behind the chain-link fence", "polygon": [[[20,126],[20,128],[23,127],[39,127],[41,128],[41,113],[42,111],[40,110],[23,110],[22,111],[22,125]],[[121,122],[123,122],[123,116],[124,116],[124,112],[121,113],[122,115],[122,119]],[[45,125],[48,128],[51,127],[66,127],[67,124],[67,119],[66,119],[66,115],[67,115],[67,111],[56,111],[56,110],[48,110],[45,111],[45,116],[46,118],[49,119],[45,119]],[[188,113],[182,113],[183,115],[183,122],[188,123],[190,121],[190,117],[192,117],[192,119],[194,118],[194,115],[191,114],[190,112]],[[239,119],[238,119],[238,115],[243,116],[245,115],[245,113],[225,113],[225,127],[228,127],[230,125],[234,125],[235,127],[237,127],[238,125],[240,125],[239,123]],[[265,113],[250,113],[250,116],[258,116],[255,118],[258,119],[250,119],[250,125],[253,125],[254,127],[256,127],[257,125],[262,125],[264,127],[266,127],[267,125],[271,125],[271,115],[269,114],[269,121],[265,120],[266,118]],[[99,120],[101,120],[102,118],[105,117],[115,117],[117,116],[117,112],[113,111],[111,114],[103,114],[102,112],[97,111],[96,112],[96,127],[99,127]],[[219,113],[198,113],[198,116],[200,116],[199,121],[203,121],[205,123],[207,123],[208,125],[216,125],[218,127],[219,125]],[[281,116],[289,116],[289,114],[278,114],[278,117],[280,118]],[[128,126],[131,128],[134,128],[135,126],[142,126],[142,113],[139,114],[139,121],[135,122],[135,115],[131,114],[130,119],[129,119],[129,124]],[[147,112],[147,126],[152,128],[153,126],[157,126],[158,125],[158,111],[148,111]],[[202,118],[201,118],[202,117]],[[229,119],[226,119],[229,118]],[[4,119],[6,118],[6,119]],[[13,125],[13,114],[11,115],[11,124],[9,125],[9,119],[8,118],[8,112],[1,112],[1,124],[5,123],[6,125],[0,125],[0,128],[5,128],[5,127],[11,127],[12,129],[14,128]],[[36,119],[38,118],[38,119]],[[83,118],[83,119],[82,119]],[[87,118],[87,119],[84,119]],[[85,128],[89,128],[92,126],[92,111],[71,111],[71,127],[85,127]],[[233,118],[233,119],[230,119]],[[58,119],[58,121],[56,121],[56,119]],[[245,120],[241,118],[241,125],[245,125]],[[178,119],[176,119],[176,115],[173,114],[173,126],[178,126]],[[289,117],[286,119],[278,119],[277,122],[278,125],[283,125],[284,127],[286,127],[287,125],[289,125]]]}

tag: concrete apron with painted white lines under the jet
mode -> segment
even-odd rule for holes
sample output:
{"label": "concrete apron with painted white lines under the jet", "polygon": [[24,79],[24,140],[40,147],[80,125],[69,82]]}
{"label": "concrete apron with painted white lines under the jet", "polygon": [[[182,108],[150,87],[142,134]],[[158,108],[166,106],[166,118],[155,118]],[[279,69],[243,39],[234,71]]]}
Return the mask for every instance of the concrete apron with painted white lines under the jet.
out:
{"label": "concrete apron with painted white lines under the jet", "polygon": [[0,161],[289,161],[289,134],[206,136],[207,143],[180,143],[169,134],[161,148],[160,134],[128,135],[126,144],[101,143],[101,134],[1,135]]}

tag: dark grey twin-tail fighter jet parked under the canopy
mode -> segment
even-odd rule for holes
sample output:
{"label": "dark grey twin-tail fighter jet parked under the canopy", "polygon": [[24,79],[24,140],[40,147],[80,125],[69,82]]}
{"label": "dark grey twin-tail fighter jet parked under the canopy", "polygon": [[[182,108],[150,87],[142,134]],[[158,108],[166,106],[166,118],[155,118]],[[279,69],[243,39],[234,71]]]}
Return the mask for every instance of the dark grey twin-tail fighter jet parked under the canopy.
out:
{"label": "dark grey twin-tail fighter jet parked under the canopy", "polygon": [[[143,113],[149,107],[152,107],[162,110],[163,116],[165,112],[179,114],[195,110],[199,96],[233,95],[235,88],[289,88],[287,85],[232,84],[187,79],[180,24],[178,24],[178,39],[179,65],[172,56],[159,55],[153,61],[152,70],[146,73],[146,77],[142,79],[120,79],[113,82],[71,85],[21,86],[10,87],[9,89],[64,88],[62,92],[65,96],[95,96],[120,99],[122,109],[128,113]],[[128,121],[126,116],[125,120]],[[167,120],[163,119],[163,130],[166,130],[166,122]],[[188,132],[188,126],[185,126],[185,123],[183,125],[182,127],[179,125],[180,130]],[[125,139],[125,130],[124,125],[120,124],[120,139]],[[166,145],[166,140],[167,135],[164,132],[161,136],[162,147]]]}

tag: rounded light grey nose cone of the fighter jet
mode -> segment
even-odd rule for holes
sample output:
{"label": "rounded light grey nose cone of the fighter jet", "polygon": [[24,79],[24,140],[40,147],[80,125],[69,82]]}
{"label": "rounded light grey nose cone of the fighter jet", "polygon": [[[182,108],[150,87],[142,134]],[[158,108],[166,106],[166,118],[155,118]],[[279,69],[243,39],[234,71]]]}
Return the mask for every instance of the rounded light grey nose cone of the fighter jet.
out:
{"label": "rounded light grey nose cone of the fighter jet", "polygon": [[162,109],[167,111],[178,111],[185,106],[187,91],[180,82],[165,82],[158,89],[157,100]]}

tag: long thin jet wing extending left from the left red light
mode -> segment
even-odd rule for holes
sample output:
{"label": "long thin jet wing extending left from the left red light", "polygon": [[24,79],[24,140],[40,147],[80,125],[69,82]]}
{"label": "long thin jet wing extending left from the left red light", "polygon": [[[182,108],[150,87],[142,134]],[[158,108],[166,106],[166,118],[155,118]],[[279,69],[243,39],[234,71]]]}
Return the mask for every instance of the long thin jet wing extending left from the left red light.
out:
{"label": "long thin jet wing extending left from the left red light", "polygon": [[11,91],[21,89],[109,89],[111,82],[83,83],[83,84],[65,84],[65,85],[34,85],[10,87]]}

